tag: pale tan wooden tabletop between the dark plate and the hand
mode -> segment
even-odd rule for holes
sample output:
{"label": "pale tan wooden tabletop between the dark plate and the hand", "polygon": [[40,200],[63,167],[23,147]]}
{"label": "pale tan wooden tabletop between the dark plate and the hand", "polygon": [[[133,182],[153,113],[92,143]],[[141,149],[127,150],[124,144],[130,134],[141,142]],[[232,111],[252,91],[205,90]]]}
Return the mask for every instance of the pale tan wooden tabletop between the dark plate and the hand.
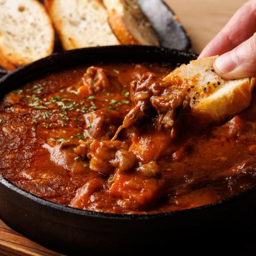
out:
{"label": "pale tan wooden tabletop between the dark plate and the hand", "polygon": [[246,0],[165,0],[188,32],[193,51],[200,53]]}

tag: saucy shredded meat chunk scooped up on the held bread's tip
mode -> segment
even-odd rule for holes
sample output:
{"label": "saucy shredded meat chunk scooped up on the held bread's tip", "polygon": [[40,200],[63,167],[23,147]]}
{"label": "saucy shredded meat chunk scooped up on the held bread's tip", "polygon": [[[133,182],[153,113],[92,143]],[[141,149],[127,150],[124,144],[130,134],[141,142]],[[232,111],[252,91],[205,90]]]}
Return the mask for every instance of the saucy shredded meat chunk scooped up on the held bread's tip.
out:
{"label": "saucy shredded meat chunk scooped up on the held bread's tip", "polygon": [[183,117],[190,111],[189,96],[183,88],[172,86],[156,79],[153,73],[144,74],[138,81],[131,82],[131,101],[133,109],[126,115],[121,129],[136,125],[148,118],[156,120],[158,130],[170,130],[172,137],[178,135]]}

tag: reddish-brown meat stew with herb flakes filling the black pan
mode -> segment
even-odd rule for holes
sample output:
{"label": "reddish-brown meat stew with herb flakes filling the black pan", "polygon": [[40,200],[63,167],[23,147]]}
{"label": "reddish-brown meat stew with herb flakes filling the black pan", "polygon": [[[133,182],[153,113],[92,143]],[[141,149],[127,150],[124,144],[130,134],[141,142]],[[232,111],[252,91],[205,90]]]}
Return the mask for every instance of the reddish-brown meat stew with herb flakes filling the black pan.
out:
{"label": "reddish-brown meat stew with herb flakes filling the black pan", "polygon": [[255,120],[237,116],[191,137],[188,87],[164,81],[170,71],[80,67],[7,94],[1,174],[56,203],[128,214],[197,207],[254,185]]}

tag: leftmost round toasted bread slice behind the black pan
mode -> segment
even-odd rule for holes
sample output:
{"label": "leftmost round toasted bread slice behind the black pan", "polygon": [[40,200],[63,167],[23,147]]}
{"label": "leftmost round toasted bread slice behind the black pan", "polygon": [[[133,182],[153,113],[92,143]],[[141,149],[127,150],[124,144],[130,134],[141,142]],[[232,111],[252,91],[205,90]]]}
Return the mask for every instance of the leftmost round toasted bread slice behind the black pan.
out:
{"label": "leftmost round toasted bread slice behind the black pan", "polygon": [[36,0],[0,1],[0,51],[6,60],[25,65],[53,51],[51,20]]}

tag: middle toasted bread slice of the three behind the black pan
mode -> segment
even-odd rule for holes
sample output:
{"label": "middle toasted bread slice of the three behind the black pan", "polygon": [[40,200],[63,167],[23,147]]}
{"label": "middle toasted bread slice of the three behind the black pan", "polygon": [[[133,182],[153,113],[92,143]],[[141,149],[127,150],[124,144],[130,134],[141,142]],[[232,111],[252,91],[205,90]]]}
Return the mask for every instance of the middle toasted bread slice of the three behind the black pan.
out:
{"label": "middle toasted bread slice of the three behind the black pan", "polygon": [[64,49],[119,44],[100,0],[47,0],[46,7]]}

